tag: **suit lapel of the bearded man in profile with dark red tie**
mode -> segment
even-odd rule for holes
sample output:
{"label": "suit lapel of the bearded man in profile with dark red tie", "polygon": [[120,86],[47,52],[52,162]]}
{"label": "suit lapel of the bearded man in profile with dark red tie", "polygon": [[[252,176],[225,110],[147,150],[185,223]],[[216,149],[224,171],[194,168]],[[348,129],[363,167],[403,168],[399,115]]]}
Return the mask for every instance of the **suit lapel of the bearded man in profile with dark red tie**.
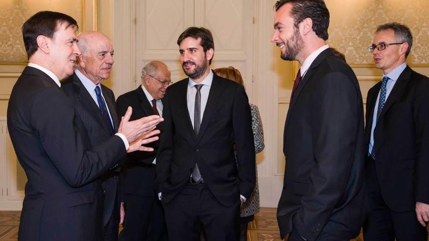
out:
{"label": "suit lapel of the bearded man in profile with dark red tie", "polygon": [[322,51],[322,53],[320,53],[312,62],[312,64],[310,65],[309,69],[307,70],[307,73],[305,73],[304,78],[301,79],[298,88],[296,89],[295,93],[293,93],[293,98],[291,99],[291,104],[288,110],[288,114],[286,115],[286,121],[285,121],[285,130],[284,130],[284,134],[286,134],[286,129],[288,127],[289,124],[289,119],[291,116],[291,113],[293,111],[293,108],[295,107],[296,104],[296,99],[298,98],[299,94],[301,93],[301,91],[304,89],[305,85],[307,84],[307,82],[309,81],[309,79],[312,77],[313,74],[313,70],[323,61],[325,60],[325,58],[327,58],[328,56],[331,56],[332,51],[328,48],[324,51]]}

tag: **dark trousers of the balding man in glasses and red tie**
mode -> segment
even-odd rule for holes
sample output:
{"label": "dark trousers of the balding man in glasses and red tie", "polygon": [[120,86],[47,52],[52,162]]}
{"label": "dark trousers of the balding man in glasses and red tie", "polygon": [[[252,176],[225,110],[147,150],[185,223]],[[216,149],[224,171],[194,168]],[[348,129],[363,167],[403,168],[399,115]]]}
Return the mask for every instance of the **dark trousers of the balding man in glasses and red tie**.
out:
{"label": "dark trousers of the balding man in glasses and red tie", "polygon": [[161,203],[154,197],[125,194],[125,217],[119,241],[167,241]]}

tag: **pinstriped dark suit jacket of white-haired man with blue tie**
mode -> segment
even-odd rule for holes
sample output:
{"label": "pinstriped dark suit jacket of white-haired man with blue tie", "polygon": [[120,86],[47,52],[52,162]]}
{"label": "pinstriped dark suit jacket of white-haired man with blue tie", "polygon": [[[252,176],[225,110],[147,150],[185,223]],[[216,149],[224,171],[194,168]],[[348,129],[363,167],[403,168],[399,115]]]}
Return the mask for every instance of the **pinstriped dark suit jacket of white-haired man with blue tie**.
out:
{"label": "pinstriped dark suit jacket of white-haired man with blue tie", "polygon": [[[94,99],[85,89],[82,82],[79,80],[78,75],[72,74],[64,80],[61,84],[61,89],[70,97],[75,106],[76,112],[88,132],[89,139],[92,146],[96,146],[103,141],[112,137],[110,127],[107,125],[103,114],[95,103]],[[104,100],[109,108],[110,115],[113,120],[115,132],[119,122],[117,119],[115,108],[115,95],[104,85],[101,85],[101,91]],[[119,160],[118,160],[119,161]],[[114,171],[108,171],[101,176],[101,186],[103,187],[104,201],[103,201],[103,226],[109,222],[115,206],[115,200],[119,202],[118,195],[118,177],[115,176]]]}

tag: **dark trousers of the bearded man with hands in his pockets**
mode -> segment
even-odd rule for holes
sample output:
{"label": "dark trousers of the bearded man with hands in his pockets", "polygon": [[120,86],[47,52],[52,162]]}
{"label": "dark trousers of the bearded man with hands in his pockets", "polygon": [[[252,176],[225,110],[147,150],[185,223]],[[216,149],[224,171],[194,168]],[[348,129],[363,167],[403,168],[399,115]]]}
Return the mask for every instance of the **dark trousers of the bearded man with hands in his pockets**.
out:
{"label": "dark trousers of the bearded man with hands in his pockets", "polygon": [[197,241],[203,225],[207,241],[237,241],[240,198],[232,206],[220,204],[205,184],[188,184],[163,204],[170,241]]}

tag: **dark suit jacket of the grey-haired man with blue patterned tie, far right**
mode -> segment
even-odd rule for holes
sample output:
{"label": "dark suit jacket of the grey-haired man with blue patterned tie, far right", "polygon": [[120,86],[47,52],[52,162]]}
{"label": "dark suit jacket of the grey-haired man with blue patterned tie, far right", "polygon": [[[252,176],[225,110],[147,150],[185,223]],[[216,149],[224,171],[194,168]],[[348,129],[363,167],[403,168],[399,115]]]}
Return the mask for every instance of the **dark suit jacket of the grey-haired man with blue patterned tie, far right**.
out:
{"label": "dark suit jacket of the grey-haired man with blue patterned tie, far right", "polygon": [[[365,148],[381,82],[367,97]],[[408,66],[399,76],[374,129],[375,167],[386,204],[396,212],[429,204],[429,78]],[[368,184],[371,185],[371,184]]]}

